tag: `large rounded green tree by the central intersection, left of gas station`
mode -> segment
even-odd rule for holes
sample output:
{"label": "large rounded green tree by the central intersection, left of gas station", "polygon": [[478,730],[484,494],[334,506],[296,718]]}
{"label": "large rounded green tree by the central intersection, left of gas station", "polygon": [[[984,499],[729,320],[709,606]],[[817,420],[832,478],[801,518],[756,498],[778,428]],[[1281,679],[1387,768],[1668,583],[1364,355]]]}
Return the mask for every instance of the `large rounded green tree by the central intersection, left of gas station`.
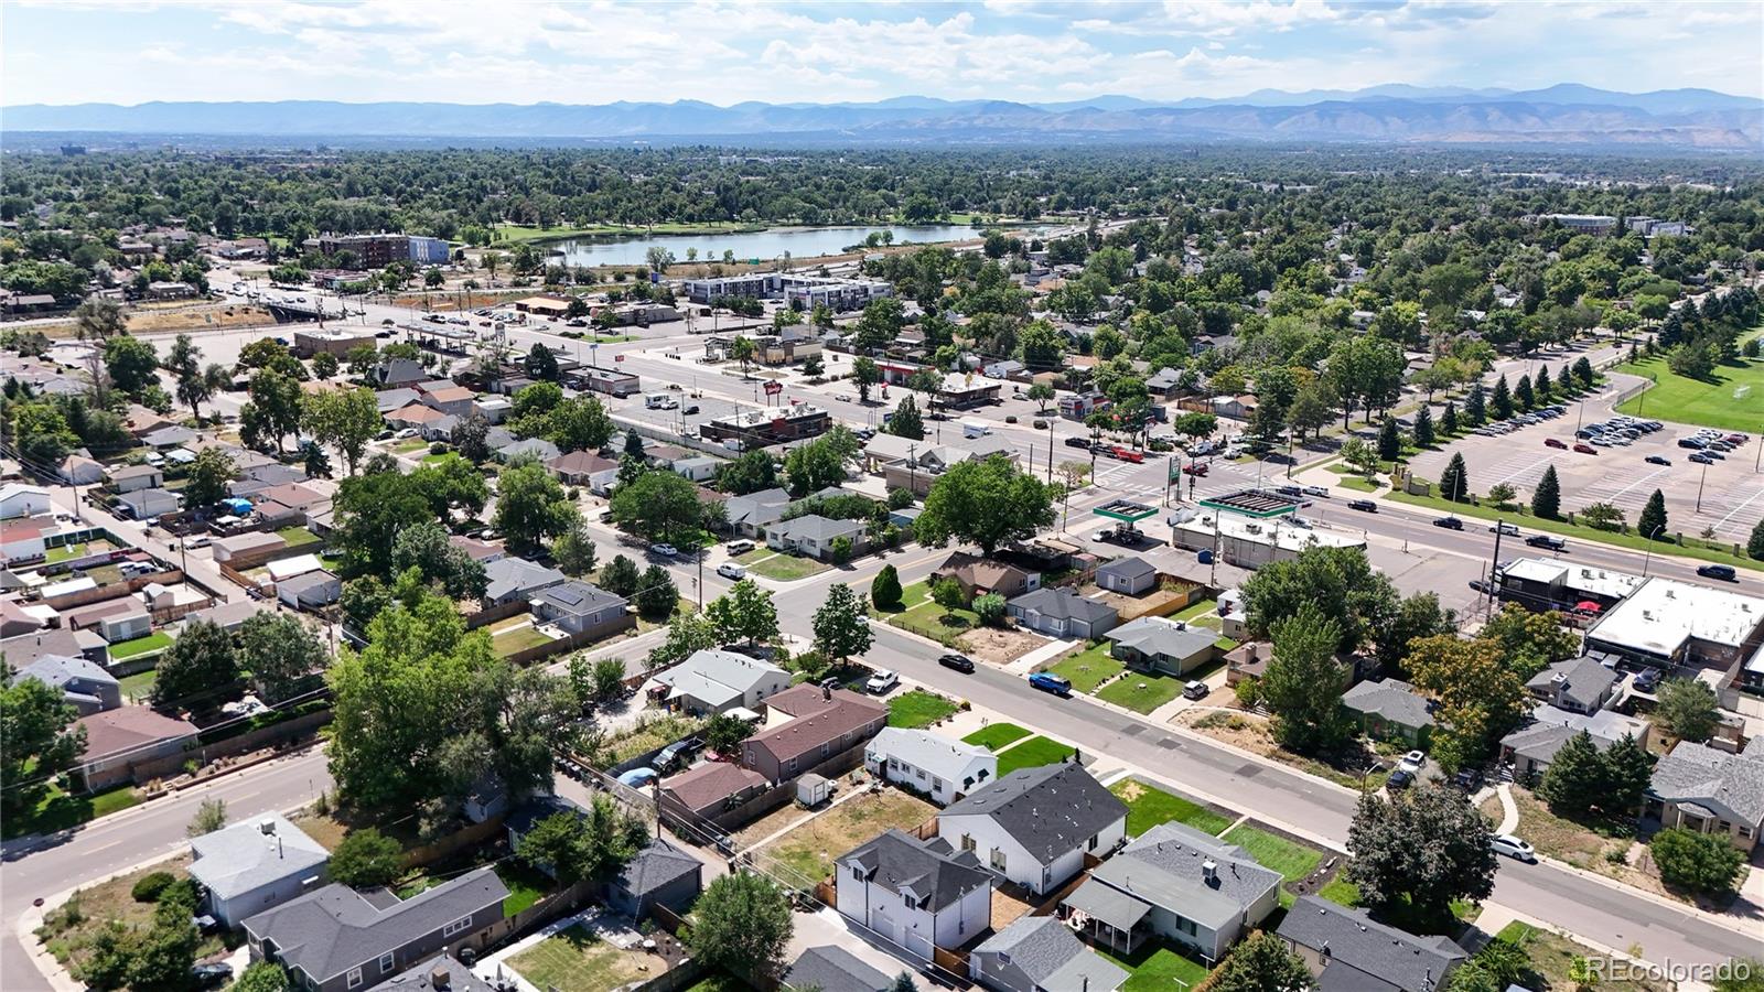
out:
{"label": "large rounded green tree by the central intersection, left of gas station", "polygon": [[960,462],[931,484],[914,535],[928,547],[951,537],[991,554],[1053,524],[1053,487],[1016,470],[1004,455]]}

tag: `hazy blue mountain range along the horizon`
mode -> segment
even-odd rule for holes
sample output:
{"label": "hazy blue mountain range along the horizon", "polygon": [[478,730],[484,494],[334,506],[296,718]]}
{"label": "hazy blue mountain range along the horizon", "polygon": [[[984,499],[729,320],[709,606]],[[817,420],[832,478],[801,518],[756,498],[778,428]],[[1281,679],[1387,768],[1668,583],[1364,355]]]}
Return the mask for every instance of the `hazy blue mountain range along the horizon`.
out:
{"label": "hazy blue mountain range along the horizon", "polygon": [[1544,90],[1385,85],[1365,90],[1258,90],[1170,102],[1099,95],[1065,102],[942,101],[714,106],[702,101],[612,104],[439,102],[145,102],[21,104],[9,132],[261,138],[510,138],[778,143],[1168,143],[1376,141],[1649,145],[1764,148],[1764,101],[1715,90],[1618,94],[1575,83]]}

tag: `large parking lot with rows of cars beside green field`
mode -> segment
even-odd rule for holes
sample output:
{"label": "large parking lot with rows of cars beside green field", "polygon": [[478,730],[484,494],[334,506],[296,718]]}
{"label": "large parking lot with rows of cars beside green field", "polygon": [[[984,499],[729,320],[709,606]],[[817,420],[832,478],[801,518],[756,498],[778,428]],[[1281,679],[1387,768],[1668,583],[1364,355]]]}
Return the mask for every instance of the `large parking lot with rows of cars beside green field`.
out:
{"label": "large parking lot with rows of cars beside green field", "polygon": [[[1630,526],[1653,491],[1660,489],[1672,531],[1699,535],[1704,528],[1713,528],[1722,540],[1745,542],[1759,517],[1764,517],[1764,477],[1755,468],[1759,440],[1750,438],[1725,452],[1723,459],[1704,466],[1688,459],[1692,450],[1678,447],[1679,438],[1690,438],[1697,431],[1685,424],[1663,424],[1660,431],[1642,434],[1630,445],[1586,445],[1595,452],[1588,454],[1575,450],[1584,441],[1575,438],[1570,408],[1566,417],[1524,425],[1510,434],[1466,434],[1441,450],[1416,455],[1411,466],[1422,478],[1438,480],[1452,455],[1462,454],[1471,492],[1485,494],[1505,482],[1519,491],[1521,501],[1529,500],[1544,471],[1556,466],[1563,512],[1611,503],[1623,510]],[[1549,438],[1565,447],[1545,445]],[[1662,457],[1671,464],[1651,464],[1649,457]]]}

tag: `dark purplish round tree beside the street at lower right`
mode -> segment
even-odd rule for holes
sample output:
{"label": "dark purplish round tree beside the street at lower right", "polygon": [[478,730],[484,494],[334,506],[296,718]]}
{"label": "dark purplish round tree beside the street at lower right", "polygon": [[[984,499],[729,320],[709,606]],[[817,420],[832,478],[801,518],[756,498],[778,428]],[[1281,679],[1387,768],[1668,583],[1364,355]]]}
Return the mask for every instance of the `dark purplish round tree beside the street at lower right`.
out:
{"label": "dark purplish round tree beside the street at lower right", "polygon": [[1385,800],[1360,796],[1348,828],[1346,879],[1374,909],[1408,902],[1422,920],[1438,920],[1452,900],[1482,902],[1494,891],[1489,821],[1462,793],[1418,785]]}

